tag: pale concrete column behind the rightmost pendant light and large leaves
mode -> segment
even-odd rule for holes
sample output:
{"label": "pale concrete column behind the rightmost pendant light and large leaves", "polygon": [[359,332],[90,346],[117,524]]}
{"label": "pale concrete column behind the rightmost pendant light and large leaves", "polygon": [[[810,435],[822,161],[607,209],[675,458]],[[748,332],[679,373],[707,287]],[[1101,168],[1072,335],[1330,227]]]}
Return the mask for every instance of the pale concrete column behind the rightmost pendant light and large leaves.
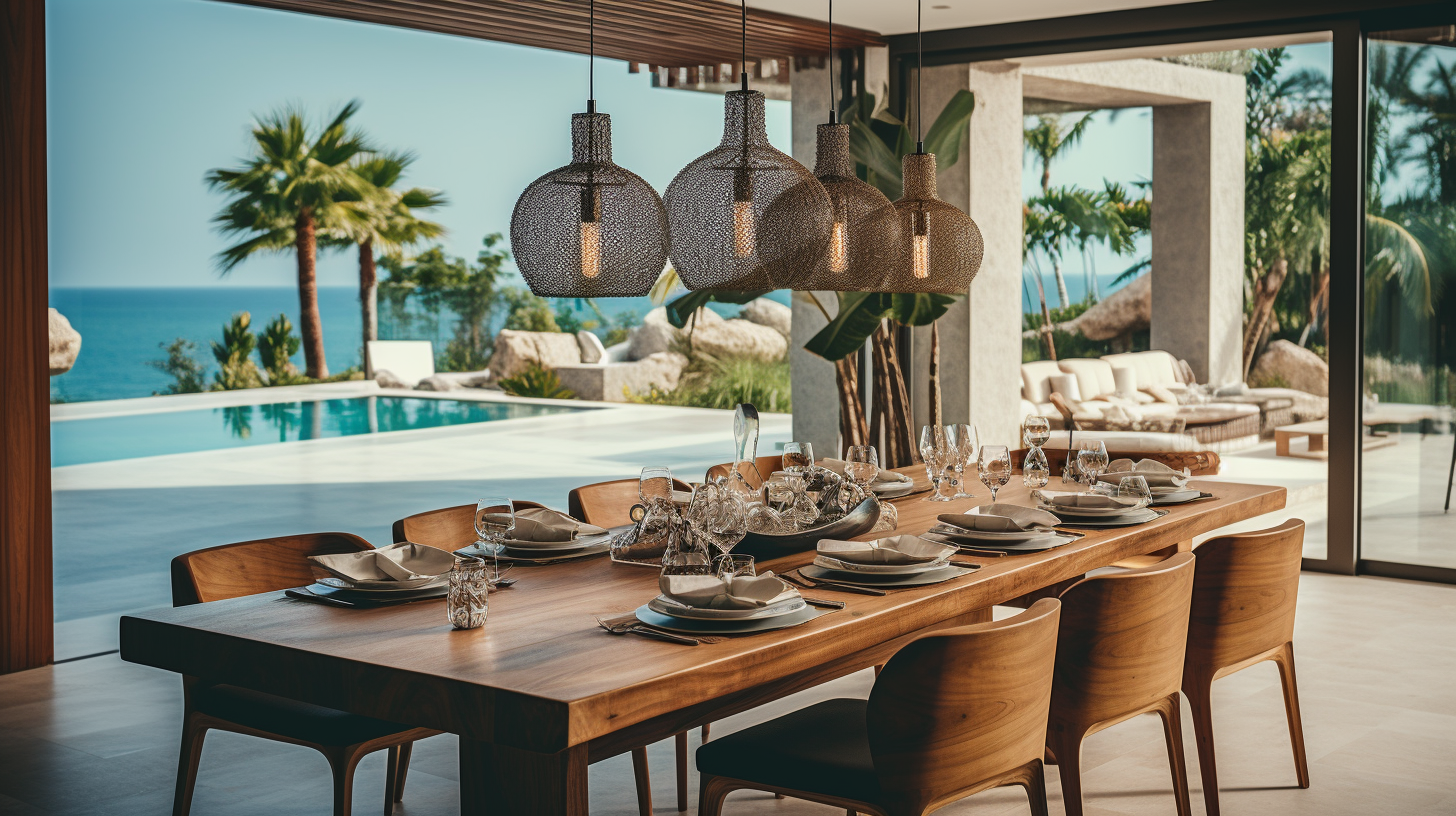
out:
{"label": "pale concrete column behind the rightmost pendant light and large leaves", "polygon": [[[1021,423],[1021,70],[1009,63],[929,67],[926,127],[951,96],[967,89],[976,112],[961,160],[939,168],[941,198],[967,211],[981,229],[986,255],[970,294],[941,318],[941,389],[945,423],[973,423],[990,444],[1019,446]],[[911,119],[910,127],[914,127]],[[911,350],[911,411],[929,420],[930,329],[916,329]]]}

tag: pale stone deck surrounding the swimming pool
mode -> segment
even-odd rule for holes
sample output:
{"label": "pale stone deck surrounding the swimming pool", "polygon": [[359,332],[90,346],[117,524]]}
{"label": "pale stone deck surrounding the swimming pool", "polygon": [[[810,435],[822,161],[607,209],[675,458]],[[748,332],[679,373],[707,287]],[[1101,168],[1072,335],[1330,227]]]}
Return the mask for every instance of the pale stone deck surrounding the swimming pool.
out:
{"label": "pale stone deck surrounding the swimming pool", "polygon": [[[52,417],[64,433],[66,420],[355,396],[561,405],[348,382],[55,405]],[[732,459],[728,411],[581,407],[600,409],[54,468],[57,659],[109,651],[119,615],[167,605],[167,562],[182,552],[319,530],[389,544],[395,519],[480,495],[565,507],[571,488],[635,476],[644,465],[699,479]],[[764,414],[760,452],[789,434],[788,414]]]}

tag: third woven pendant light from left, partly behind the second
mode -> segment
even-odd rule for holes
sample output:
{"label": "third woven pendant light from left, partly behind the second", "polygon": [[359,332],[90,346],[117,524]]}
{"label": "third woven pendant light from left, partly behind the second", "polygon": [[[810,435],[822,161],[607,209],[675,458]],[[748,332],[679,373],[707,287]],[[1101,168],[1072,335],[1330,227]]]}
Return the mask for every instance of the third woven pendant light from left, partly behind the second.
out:
{"label": "third woven pendant light from left, partly behind the second", "polygon": [[[794,281],[798,290],[879,291],[898,261],[900,221],[884,192],[859,181],[849,154],[849,125],[834,108],[834,0],[828,4],[828,122],[818,127],[814,176],[833,213],[827,251]],[[887,217],[888,216],[888,217]]]}

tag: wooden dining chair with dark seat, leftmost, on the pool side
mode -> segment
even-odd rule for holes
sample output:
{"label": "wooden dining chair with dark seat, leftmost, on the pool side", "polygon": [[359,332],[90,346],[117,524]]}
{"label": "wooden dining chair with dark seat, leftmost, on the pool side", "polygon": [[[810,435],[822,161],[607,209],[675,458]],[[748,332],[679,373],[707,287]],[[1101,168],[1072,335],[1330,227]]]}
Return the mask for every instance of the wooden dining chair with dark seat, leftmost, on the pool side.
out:
{"label": "wooden dining chair with dark seat, leftmost, on the pool side", "polygon": [[[310,555],[368,549],[373,546],[355,535],[307,533],[186,552],[172,560],[172,605],[189,606],[304,586],[313,581]],[[440,733],[197,678],[183,678],[182,691],[182,752],[173,816],[186,816],[192,809],[192,788],[208,730],[301,745],[322,753],[333,771],[335,816],[351,813],[354,768],[380,749],[389,749],[384,816],[390,816],[405,796],[414,742]]]}

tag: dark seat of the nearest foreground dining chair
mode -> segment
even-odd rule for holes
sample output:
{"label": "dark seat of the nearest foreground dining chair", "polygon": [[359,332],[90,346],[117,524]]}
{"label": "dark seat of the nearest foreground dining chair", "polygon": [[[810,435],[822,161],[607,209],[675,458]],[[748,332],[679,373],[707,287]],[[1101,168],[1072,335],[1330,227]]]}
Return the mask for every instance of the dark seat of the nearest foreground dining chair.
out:
{"label": "dark seat of the nearest foreground dining chair", "polygon": [[868,710],[865,699],[827,699],[718,737],[697,749],[697,771],[878,803]]}

